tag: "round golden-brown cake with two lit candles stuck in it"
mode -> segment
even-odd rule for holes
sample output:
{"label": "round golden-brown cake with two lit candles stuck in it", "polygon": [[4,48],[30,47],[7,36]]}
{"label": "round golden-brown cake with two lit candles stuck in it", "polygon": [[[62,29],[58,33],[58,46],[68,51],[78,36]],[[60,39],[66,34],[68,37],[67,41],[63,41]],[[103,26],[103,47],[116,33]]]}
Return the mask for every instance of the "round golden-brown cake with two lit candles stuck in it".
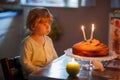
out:
{"label": "round golden-brown cake with two lit candles stuck in it", "polygon": [[108,47],[97,39],[82,41],[72,46],[73,54],[86,57],[102,57],[109,54]]}

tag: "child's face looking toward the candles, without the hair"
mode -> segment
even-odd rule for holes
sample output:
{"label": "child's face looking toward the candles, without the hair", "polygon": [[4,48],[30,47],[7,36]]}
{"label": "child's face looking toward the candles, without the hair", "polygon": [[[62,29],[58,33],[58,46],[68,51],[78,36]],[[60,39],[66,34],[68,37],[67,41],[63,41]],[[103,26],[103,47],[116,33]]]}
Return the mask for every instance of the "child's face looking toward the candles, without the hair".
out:
{"label": "child's face looking toward the candles, without the hair", "polygon": [[51,24],[50,23],[38,23],[34,27],[34,33],[38,35],[48,35],[51,31]]}

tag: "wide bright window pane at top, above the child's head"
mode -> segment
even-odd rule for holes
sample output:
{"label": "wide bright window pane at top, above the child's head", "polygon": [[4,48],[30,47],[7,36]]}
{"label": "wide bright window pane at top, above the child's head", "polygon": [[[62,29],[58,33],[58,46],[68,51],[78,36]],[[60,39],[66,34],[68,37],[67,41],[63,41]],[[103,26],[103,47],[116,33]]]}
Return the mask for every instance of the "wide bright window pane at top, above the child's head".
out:
{"label": "wide bright window pane at top, above the child's head", "polygon": [[21,0],[22,5],[78,8],[79,0]]}

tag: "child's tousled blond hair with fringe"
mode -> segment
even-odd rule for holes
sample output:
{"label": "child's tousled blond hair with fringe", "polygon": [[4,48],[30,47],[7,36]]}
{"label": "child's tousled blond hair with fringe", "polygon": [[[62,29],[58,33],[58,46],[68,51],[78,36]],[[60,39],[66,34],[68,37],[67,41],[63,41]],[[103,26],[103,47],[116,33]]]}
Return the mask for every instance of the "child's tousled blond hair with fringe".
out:
{"label": "child's tousled blond hair with fringe", "polygon": [[34,8],[29,11],[26,20],[26,26],[28,29],[32,31],[32,27],[35,26],[36,23],[52,23],[53,16],[50,11],[46,8]]}

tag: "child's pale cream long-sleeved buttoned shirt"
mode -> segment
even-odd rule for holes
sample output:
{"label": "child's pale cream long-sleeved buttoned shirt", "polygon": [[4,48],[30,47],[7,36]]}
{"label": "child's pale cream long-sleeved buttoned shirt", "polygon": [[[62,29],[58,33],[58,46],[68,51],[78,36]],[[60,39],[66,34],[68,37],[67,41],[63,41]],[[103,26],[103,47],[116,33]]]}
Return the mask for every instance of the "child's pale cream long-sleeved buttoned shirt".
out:
{"label": "child's pale cream long-sleeved buttoned shirt", "polygon": [[21,63],[23,68],[31,73],[44,67],[58,56],[50,37],[45,36],[45,45],[38,44],[30,36],[24,39],[21,47]]}

